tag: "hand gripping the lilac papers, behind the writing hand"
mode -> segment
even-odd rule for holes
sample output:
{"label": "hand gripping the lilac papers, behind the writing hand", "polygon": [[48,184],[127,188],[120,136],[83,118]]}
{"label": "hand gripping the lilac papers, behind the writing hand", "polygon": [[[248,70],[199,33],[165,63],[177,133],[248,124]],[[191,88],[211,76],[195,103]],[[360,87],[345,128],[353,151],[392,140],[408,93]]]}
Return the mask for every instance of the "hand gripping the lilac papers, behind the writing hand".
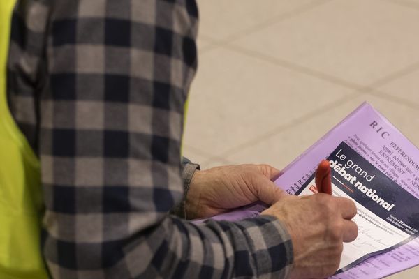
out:
{"label": "hand gripping the lilac papers, behind the writing hand", "polygon": [[259,200],[274,204],[288,195],[271,181],[279,173],[269,165],[223,166],[196,171],[186,197],[186,218],[210,217]]}

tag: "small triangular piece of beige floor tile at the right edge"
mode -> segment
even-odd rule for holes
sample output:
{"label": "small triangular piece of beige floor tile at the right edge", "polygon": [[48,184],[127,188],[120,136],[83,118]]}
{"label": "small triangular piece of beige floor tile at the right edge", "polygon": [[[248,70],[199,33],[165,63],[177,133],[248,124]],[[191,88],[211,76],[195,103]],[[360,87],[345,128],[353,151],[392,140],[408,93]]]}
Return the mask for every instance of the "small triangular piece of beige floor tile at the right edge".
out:
{"label": "small triangular piece of beige floor tile at the right edge", "polygon": [[391,96],[419,105],[419,69],[379,88]]}

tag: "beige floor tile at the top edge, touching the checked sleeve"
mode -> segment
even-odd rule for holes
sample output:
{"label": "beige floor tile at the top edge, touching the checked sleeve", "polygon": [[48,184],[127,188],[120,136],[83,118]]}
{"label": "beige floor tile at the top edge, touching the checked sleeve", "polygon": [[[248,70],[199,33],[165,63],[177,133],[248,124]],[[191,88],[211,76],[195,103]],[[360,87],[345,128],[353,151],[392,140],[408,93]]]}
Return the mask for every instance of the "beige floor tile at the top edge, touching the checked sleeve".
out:
{"label": "beige floor tile at the top edge, touching the checked sleeve", "polygon": [[200,0],[200,33],[218,40],[254,27],[272,17],[290,13],[296,8],[317,3],[313,0]]}

